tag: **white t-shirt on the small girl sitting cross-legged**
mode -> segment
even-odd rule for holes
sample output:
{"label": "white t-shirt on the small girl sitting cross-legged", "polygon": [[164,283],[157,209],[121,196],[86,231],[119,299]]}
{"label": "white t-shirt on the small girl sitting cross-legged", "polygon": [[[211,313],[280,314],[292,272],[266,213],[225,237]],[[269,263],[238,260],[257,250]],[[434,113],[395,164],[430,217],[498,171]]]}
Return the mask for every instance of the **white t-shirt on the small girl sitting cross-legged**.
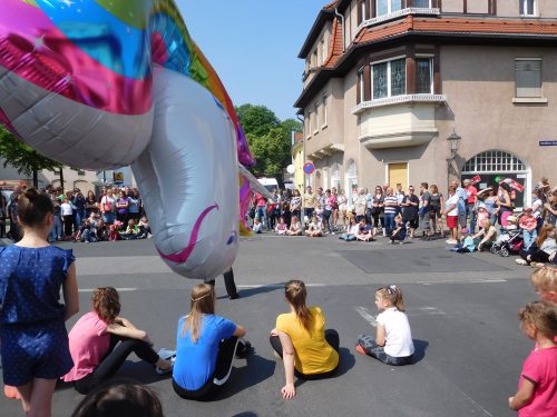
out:
{"label": "white t-shirt on the small girl sitting cross-legged", "polygon": [[384,353],[387,355],[402,358],[414,353],[412,332],[410,331],[410,324],[404,312],[397,310],[395,307],[391,307],[381,312],[377,320],[384,327]]}

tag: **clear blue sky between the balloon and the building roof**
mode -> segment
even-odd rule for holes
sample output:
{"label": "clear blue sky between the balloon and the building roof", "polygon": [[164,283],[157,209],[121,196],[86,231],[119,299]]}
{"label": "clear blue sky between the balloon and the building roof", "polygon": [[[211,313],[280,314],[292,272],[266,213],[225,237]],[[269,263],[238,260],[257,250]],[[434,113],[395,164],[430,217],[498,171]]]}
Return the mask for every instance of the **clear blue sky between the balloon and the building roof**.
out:
{"label": "clear blue sky between the balloon and the building roof", "polygon": [[192,38],[235,106],[263,105],[295,118],[305,38],[330,0],[176,0]]}

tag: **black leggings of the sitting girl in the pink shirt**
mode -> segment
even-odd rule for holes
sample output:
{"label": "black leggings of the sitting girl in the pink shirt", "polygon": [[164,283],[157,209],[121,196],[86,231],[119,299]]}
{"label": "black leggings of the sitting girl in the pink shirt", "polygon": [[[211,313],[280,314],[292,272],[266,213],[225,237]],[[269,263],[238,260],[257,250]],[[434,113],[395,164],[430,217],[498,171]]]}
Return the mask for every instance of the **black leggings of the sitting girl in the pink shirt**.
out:
{"label": "black leggings of the sitting girl in the pink shirt", "polygon": [[[120,344],[118,344],[120,341]],[[110,335],[110,348],[108,355],[100,361],[99,366],[86,377],[74,381],[74,387],[80,394],[88,394],[105,379],[114,376],[124,365],[129,354],[136,354],[140,359],[155,365],[158,355],[145,341],[127,337]]]}

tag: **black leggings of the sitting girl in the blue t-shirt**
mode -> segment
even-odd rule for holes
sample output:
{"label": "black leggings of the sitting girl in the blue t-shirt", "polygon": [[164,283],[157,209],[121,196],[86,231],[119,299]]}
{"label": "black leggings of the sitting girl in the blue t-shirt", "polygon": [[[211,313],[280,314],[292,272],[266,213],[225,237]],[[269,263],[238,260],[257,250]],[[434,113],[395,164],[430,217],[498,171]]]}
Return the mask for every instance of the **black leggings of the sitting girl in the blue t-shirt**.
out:
{"label": "black leggings of the sitting girl in the blue t-shirt", "polygon": [[218,345],[218,356],[216,357],[216,367],[213,375],[207,381],[196,390],[188,390],[182,388],[178,383],[173,378],[174,391],[185,399],[209,399],[218,394],[219,388],[228,380],[232,370],[232,360],[240,339],[231,337],[229,339],[221,340]]}

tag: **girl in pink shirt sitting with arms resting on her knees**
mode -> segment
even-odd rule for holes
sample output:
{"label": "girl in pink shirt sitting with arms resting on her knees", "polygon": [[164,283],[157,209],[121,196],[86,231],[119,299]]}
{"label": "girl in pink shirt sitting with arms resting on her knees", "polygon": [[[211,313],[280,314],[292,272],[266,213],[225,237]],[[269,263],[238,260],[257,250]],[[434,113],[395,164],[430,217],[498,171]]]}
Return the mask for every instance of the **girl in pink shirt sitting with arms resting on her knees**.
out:
{"label": "girl in pink shirt sitting with arms resting on her knees", "polygon": [[[119,317],[120,300],[113,287],[96,288],[92,292],[92,311],[84,315],[68,335],[74,368],[62,379],[74,383],[81,394],[89,393],[121,367],[129,354],[157,367],[158,374],[173,369],[174,353],[153,350],[146,331]],[[163,353],[164,351],[164,353]]]}

